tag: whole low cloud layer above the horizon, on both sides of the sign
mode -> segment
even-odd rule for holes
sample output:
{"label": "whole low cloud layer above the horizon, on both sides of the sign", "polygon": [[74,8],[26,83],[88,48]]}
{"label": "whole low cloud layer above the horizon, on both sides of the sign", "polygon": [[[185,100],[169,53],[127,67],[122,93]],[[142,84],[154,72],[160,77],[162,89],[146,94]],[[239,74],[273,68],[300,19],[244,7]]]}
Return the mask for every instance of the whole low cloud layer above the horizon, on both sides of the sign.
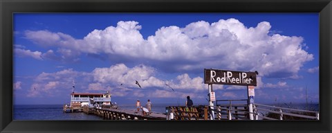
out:
{"label": "whole low cloud layer above the horizon, on both sides of the sign", "polygon": [[[75,92],[106,92],[110,91],[112,96],[135,96],[151,98],[185,98],[190,95],[195,98],[206,98],[208,85],[205,85],[203,78],[192,78],[189,74],[183,73],[172,79],[156,78],[157,71],[154,67],[143,64],[127,67],[124,64],[116,64],[111,67],[96,68],[90,72],[64,69],[54,73],[40,73],[34,80],[33,85],[28,90],[28,97],[42,96],[63,96],[72,91],[73,80],[75,80]],[[135,84],[138,81],[142,89]],[[291,90],[287,82],[280,81],[275,84],[261,82],[261,77],[257,78],[257,96],[267,96],[263,89],[285,90],[287,92],[299,92]],[[21,82],[16,82],[17,87],[21,87]],[[237,98],[242,95],[239,91],[230,89],[243,89],[243,86],[214,85],[216,92],[222,92],[222,97]],[[174,91],[172,90],[174,89]],[[289,89],[289,90],[288,90]],[[241,91],[244,93],[245,91]],[[246,94],[246,93],[245,93]]]}

